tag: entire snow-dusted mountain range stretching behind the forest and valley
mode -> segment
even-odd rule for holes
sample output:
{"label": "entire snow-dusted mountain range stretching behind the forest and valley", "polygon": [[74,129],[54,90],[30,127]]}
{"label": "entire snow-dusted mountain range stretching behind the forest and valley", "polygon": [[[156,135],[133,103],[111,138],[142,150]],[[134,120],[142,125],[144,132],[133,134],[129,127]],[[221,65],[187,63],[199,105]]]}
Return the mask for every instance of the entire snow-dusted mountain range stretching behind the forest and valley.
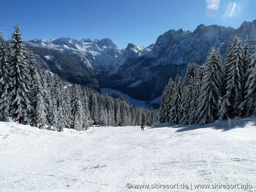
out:
{"label": "entire snow-dusted mountain range stretching behind the forest and valley", "polygon": [[43,65],[68,81],[112,88],[149,101],[162,94],[170,77],[184,75],[188,62],[203,64],[213,46],[220,48],[224,57],[234,34],[242,41],[248,36],[252,44],[256,20],[243,22],[238,29],[200,24],[193,32],[169,30],[146,48],[129,43],[120,50],[108,38],[36,39],[26,42],[26,46]]}

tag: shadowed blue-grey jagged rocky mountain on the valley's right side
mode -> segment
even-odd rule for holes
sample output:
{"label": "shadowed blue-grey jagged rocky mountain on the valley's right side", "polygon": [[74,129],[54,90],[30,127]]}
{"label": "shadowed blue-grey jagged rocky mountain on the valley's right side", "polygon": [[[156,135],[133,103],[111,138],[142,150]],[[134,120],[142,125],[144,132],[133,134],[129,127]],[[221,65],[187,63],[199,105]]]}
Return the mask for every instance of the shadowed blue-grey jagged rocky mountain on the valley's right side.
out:
{"label": "shadowed blue-grey jagged rocky mountain on the valley's right side", "polygon": [[256,37],[256,20],[244,22],[237,30],[203,24],[194,32],[169,30],[160,35],[154,47],[144,54],[140,54],[142,51],[138,46],[128,44],[118,63],[118,70],[110,76],[113,79],[115,74],[119,78],[112,88],[144,100],[158,97],[170,77],[175,78],[177,72],[184,75],[188,62],[202,65],[213,46],[220,48],[224,61],[228,43],[234,34],[241,40],[248,35],[249,43],[252,43]]}

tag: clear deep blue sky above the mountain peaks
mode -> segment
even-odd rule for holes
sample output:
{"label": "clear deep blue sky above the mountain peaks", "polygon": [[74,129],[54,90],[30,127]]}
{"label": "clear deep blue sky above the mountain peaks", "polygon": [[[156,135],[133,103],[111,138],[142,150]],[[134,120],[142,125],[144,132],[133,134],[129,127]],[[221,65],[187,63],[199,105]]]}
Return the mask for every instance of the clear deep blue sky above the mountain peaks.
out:
{"label": "clear deep blue sky above the mountain peaks", "polygon": [[238,28],[256,19],[255,8],[255,0],[0,0],[0,28],[6,40],[18,23],[24,40],[107,37],[145,47],[170,29]]}

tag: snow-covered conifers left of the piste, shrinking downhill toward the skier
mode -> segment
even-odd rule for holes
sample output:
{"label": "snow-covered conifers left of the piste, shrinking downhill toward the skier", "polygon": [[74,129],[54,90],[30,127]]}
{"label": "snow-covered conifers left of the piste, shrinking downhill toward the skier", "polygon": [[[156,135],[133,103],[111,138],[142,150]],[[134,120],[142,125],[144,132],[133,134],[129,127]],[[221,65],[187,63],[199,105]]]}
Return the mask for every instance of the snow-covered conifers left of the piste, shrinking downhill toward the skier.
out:
{"label": "snow-covered conifers left of the piste, shrinking downhill toward the skier", "polygon": [[78,84],[68,84],[56,74],[42,70],[32,52],[23,45],[20,27],[5,42],[0,32],[0,120],[15,120],[44,128],[54,126],[86,130],[102,126],[152,125],[158,111],[135,108],[121,98],[99,94]]}

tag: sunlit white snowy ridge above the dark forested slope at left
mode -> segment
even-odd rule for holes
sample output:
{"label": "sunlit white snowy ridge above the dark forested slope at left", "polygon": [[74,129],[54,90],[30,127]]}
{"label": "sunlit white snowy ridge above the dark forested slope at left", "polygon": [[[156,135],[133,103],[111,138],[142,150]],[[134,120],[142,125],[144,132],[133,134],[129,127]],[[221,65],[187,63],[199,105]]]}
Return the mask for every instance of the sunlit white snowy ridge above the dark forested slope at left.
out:
{"label": "sunlit white snowy ridge above the dark forested slope at left", "polygon": [[110,64],[120,60],[120,50],[110,39],[102,40],[82,39],[80,41],[70,37],[59,39],[34,39],[26,42],[29,47],[41,46],[69,54],[80,55],[85,59],[87,66],[96,68],[107,68]]}

